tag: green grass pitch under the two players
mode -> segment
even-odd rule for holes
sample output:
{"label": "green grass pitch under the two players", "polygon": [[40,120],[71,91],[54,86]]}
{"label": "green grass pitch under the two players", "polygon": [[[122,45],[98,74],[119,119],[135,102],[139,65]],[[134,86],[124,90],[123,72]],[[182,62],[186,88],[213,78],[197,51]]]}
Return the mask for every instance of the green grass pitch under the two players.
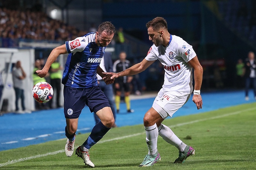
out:
{"label": "green grass pitch under the two players", "polygon": [[[143,125],[111,129],[90,149],[94,169],[220,170],[256,169],[256,103],[227,107],[202,114],[166,119],[180,139],[194,147],[195,156],[173,164],[178,149],[158,137],[161,161],[138,167],[148,152]],[[76,147],[87,134],[77,134]],[[84,169],[81,158],[65,155],[66,139],[0,152],[0,169]]]}

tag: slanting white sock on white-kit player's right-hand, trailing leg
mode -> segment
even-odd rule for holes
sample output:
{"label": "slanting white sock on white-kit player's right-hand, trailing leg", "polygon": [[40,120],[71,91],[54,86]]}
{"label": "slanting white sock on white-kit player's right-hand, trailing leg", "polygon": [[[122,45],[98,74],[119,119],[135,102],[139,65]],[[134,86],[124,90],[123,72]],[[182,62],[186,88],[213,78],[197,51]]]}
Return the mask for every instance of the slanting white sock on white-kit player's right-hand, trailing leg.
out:
{"label": "slanting white sock on white-kit player's right-hand, trailing leg", "polygon": [[176,148],[178,148],[179,151],[183,152],[185,147],[187,146],[184,144],[174,133],[173,131],[166,125],[161,124],[158,127],[158,133],[159,136],[163,137],[163,139],[168,142],[169,144],[172,144]]}

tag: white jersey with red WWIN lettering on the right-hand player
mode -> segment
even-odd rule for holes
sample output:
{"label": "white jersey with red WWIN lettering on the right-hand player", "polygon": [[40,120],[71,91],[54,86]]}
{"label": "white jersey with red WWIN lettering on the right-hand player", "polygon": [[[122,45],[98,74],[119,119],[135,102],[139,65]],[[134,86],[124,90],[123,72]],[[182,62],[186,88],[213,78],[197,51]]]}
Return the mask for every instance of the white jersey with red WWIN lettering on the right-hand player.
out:
{"label": "white jersey with red WWIN lettering on the right-hand player", "polygon": [[146,60],[159,60],[165,70],[164,91],[180,91],[191,93],[192,86],[192,67],[188,64],[196,56],[192,46],[182,38],[170,35],[167,47],[152,45],[146,56]]}

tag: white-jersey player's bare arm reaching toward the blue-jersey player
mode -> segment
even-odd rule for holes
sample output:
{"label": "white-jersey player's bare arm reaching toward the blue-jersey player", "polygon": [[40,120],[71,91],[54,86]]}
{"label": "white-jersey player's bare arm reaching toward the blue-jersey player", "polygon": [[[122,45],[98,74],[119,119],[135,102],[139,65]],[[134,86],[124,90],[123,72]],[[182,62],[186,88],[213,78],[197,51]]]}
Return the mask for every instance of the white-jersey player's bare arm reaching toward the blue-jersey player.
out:
{"label": "white-jersey player's bare arm reaching toward the blue-jersey player", "polygon": [[140,63],[138,64],[135,64],[133,65],[132,67],[124,70],[124,71],[121,71],[119,73],[112,73],[112,72],[106,72],[106,73],[103,73],[103,74],[109,74],[109,75],[112,75],[111,76],[111,79],[112,78],[118,78],[118,77],[122,77],[122,76],[132,76],[132,75],[135,75],[135,74],[138,74],[144,70],[146,70],[152,63],[154,63],[156,60],[154,61],[148,61],[146,59],[143,59]]}

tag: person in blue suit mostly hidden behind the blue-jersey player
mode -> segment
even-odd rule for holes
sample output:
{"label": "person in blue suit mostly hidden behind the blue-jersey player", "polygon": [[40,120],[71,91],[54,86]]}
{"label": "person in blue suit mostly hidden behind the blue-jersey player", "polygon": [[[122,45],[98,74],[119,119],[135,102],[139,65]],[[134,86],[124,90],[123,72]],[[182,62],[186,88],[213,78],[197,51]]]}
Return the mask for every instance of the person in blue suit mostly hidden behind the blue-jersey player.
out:
{"label": "person in blue suit mostly hidden behind the blue-jersey player", "polygon": [[[102,68],[102,70],[105,72],[113,71],[113,63],[112,63],[111,53],[105,52],[105,54],[102,57],[102,60],[100,62],[100,68]],[[116,120],[115,101],[113,99],[113,96],[114,96],[113,86],[112,86],[112,84],[106,85],[104,80],[102,80],[102,78],[98,74],[96,74],[96,76],[98,78],[98,85],[100,86],[102,92],[107,97],[110,108],[111,108],[113,116],[114,116],[114,119]],[[96,124],[100,122],[100,118],[96,115],[95,112],[94,112],[94,119],[95,119]],[[113,124],[112,128],[115,128],[115,127],[117,127],[116,123]]]}

